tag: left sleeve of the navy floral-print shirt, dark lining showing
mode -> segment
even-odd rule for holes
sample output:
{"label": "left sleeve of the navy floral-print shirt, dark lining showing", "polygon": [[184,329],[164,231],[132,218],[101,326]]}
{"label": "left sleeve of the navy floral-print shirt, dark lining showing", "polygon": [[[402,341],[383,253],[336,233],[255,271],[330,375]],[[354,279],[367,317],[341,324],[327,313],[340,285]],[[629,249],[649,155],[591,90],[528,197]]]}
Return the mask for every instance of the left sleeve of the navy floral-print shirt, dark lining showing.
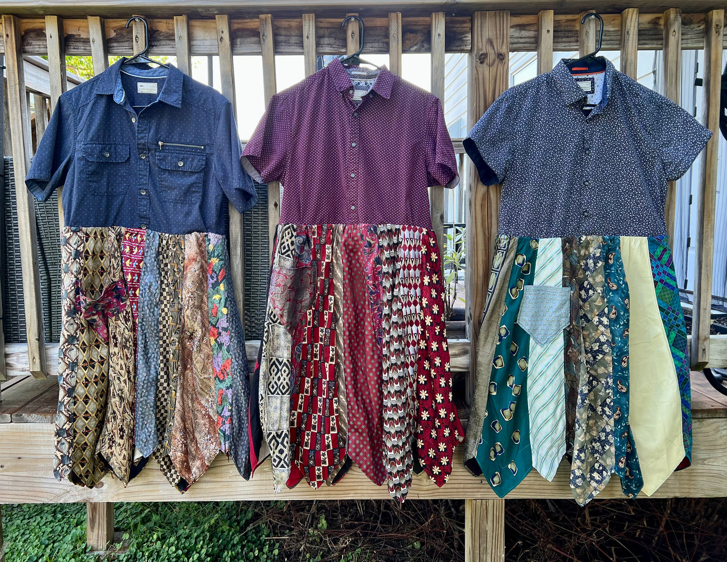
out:
{"label": "left sleeve of the navy floral-print shirt, dark lining showing", "polygon": [[514,103],[505,91],[480,118],[463,142],[485,185],[502,183],[513,155]]}

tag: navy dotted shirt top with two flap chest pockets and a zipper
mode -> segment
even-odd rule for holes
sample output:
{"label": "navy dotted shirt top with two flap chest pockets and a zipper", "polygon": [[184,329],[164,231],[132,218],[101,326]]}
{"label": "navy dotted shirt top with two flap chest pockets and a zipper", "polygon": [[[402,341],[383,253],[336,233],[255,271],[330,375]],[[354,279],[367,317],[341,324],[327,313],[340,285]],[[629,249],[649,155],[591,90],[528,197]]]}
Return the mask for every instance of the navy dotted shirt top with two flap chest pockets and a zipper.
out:
{"label": "navy dotted shirt top with two flap chest pockets and a zipper", "polygon": [[60,97],[28,189],[46,201],[63,185],[69,226],[225,233],[226,199],[257,201],[232,105],[172,65],[125,60]]}

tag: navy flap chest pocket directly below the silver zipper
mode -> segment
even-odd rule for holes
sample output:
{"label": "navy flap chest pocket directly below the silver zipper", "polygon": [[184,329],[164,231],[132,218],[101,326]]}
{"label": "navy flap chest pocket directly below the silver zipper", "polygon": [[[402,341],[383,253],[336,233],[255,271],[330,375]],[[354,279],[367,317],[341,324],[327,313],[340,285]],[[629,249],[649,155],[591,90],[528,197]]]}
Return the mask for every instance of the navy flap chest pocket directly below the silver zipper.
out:
{"label": "navy flap chest pocket directly below the silver zipper", "polygon": [[204,153],[156,150],[159,198],[172,203],[197,203],[202,196]]}

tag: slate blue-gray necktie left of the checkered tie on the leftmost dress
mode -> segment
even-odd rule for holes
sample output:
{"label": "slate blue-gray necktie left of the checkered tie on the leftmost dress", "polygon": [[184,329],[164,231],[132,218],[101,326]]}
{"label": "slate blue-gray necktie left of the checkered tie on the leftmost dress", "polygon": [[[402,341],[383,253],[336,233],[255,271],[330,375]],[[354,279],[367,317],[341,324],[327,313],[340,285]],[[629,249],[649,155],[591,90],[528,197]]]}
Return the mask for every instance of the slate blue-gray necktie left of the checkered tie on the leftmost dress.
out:
{"label": "slate blue-gray necktie left of the checkered tie on the leftmost dress", "polygon": [[159,443],[156,385],[159,378],[159,233],[148,230],[139,285],[137,316],[137,409],[134,443],[149,457]]}

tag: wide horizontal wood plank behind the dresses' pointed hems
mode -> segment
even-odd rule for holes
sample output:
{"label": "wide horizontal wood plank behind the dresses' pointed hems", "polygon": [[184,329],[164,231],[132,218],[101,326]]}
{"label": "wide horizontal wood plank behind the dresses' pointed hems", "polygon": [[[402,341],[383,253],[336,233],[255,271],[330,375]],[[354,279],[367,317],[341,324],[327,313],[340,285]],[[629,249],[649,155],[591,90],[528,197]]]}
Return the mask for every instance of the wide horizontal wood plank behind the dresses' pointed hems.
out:
{"label": "wide horizontal wood plank behind the dresses' pointed hems", "polygon": [[[727,422],[721,418],[694,420],[694,456],[692,466],[673,474],[653,497],[724,497],[727,480]],[[183,495],[169,486],[150,461],[142,473],[124,486],[107,476],[94,489],[58,482],[51,470],[53,426],[51,424],[0,424],[0,503],[66,502],[179,502],[228,501],[257,499],[390,499],[386,487],[375,486],[354,466],[336,486],[318,491],[301,483],[294,490],[273,494],[270,461],[244,481],[233,462],[220,454],[206,474]],[[477,478],[462,466],[462,447],[454,453],[454,470],[449,482],[438,488],[419,475],[409,492],[410,499],[494,499],[496,496],[483,478]],[[535,471],[525,478],[508,498],[572,499],[569,487],[570,467],[561,464],[551,483]],[[618,478],[611,478],[601,499],[623,497]]]}

